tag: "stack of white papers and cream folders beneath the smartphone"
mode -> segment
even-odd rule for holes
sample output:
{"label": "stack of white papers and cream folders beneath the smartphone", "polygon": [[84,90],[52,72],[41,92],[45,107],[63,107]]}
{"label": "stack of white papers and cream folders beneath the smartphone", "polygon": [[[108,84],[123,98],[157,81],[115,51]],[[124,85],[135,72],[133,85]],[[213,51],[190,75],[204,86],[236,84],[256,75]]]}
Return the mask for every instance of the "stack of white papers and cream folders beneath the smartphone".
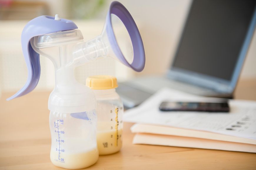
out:
{"label": "stack of white papers and cream folders beneath the smartphone", "polygon": [[134,144],[154,144],[256,153],[256,102],[230,100],[230,113],[162,112],[162,101],[209,101],[173,89],[162,89],[139,107],[127,110]]}

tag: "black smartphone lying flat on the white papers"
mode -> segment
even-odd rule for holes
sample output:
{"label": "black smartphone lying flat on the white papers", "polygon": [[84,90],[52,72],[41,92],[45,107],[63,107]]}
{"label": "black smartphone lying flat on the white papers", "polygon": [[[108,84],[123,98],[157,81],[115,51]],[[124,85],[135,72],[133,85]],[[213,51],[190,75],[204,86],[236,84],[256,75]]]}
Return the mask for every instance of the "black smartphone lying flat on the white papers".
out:
{"label": "black smartphone lying flat on the white papers", "polygon": [[227,102],[162,102],[159,106],[162,111],[199,111],[199,112],[229,112]]}

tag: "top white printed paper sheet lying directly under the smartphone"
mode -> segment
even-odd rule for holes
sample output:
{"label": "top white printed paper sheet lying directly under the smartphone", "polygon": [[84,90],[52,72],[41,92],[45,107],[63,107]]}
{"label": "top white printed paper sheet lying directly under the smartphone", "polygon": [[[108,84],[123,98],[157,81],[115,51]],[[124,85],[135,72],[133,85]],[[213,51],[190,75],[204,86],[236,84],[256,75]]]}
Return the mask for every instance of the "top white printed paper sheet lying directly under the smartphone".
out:
{"label": "top white printed paper sheet lying directly under the smartphone", "polygon": [[[211,99],[164,88],[139,107],[127,110],[124,114],[124,121],[203,130],[256,139],[255,101],[230,100],[230,113],[162,112],[159,110],[160,103],[166,100],[206,101]],[[240,127],[235,127],[237,125]]]}

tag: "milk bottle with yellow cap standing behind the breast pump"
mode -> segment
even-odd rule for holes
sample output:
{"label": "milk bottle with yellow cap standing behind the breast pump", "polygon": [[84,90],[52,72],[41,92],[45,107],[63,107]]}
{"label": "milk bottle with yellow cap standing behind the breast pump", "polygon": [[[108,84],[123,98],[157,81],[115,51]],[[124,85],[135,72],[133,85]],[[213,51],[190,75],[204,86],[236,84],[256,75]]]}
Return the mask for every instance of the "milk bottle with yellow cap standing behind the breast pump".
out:
{"label": "milk bottle with yellow cap standing behind the breast pump", "polygon": [[118,152],[122,147],[123,103],[116,93],[117,79],[99,75],[86,79],[86,86],[93,89],[97,108],[97,145],[100,155]]}

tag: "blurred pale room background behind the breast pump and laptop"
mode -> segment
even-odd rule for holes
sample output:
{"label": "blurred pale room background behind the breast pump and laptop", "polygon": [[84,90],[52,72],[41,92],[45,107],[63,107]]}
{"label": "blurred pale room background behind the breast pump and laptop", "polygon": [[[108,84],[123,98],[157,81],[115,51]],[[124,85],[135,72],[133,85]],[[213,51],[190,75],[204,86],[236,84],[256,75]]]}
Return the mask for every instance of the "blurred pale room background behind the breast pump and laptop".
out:
{"label": "blurred pale room background behind the breast pump and laptop", "polygon": [[[116,76],[126,81],[148,74],[165,74],[176,50],[191,5],[190,0],[119,0],[132,14],[142,35],[146,66],[140,73],[111,58],[98,60],[76,69],[76,79],[85,83],[96,74]],[[74,21],[85,40],[99,35],[112,0],[0,0],[0,91],[18,91],[26,82],[27,68],[21,50],[21,32],[26,23],[41,15]],[[256,35],[247,53],[240,79],[256,78]],[[40,57],[41,77],[35,90],[54,88],[54,67]],[[0,93],[1,93],[0,92]]]}

